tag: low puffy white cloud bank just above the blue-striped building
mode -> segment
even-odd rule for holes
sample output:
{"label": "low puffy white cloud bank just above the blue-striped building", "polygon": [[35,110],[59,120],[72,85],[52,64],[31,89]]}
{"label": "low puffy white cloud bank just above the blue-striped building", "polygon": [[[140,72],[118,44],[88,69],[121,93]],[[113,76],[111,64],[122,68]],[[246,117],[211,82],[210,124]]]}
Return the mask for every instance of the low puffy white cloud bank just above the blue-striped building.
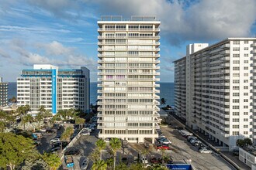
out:
{"label": "low puffy white cloud bank just above the blue-striped building", "polygon": [[[7,48],[0,50],[0,55],[12,51],[12,63],[19,66],[33,66],[33,64],[53,64],[57,66],[88,66],[95,71],[97,62],[92,57],[77,52],[74,47],[67,47],[60,42],[30,44],[22,39],[12,39],[5,45]],[[38,50],[40,49],[40,50]],[[36,52],[35,52],[36,51]]]}

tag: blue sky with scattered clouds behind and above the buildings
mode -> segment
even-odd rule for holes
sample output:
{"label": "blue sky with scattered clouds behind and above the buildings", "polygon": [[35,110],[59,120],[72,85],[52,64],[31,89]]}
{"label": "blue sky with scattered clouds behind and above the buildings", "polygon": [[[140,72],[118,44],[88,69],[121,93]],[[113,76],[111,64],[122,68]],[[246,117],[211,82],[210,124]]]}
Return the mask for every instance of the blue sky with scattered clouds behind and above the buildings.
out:
{"label": "blue sky with scattered clouds behind and above the buildings", "polygon": [[256,0],[0,0],[0,76],[48,63],[91,70],[97,80],[97,21],[102,15],[161,20],[161,82],[174,82],[175,59],[189,43],[256,36]]}

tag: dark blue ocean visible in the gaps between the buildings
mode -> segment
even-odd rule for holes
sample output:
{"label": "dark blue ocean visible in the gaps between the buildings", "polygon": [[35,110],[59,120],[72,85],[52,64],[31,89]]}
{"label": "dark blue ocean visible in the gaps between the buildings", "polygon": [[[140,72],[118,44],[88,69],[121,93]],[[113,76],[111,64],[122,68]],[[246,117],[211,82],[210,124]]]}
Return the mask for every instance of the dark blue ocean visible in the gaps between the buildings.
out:
{"label": "dark blue ocean visible in the gaps between the buildings", "polygon": [[[9,83],[9,98],[17,97],[17,83]],[[175,105],[175,83],[160,83],[160,98],[166,100],[166,104],[173,106]],[[97,82],[90,84],[90,103],[96,104],[97,101]]]}

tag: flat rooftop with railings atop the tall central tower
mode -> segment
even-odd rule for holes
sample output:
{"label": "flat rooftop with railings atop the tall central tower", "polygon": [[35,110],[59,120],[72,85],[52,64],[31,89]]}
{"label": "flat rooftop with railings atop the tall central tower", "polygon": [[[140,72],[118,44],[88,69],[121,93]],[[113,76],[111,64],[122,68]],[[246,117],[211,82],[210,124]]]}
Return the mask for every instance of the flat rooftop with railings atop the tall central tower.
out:
{"label": "flat rooftop with railings atop the tall central tower", "polygon": [[154,15],[132,15],[130,19],[123,19],[122,15],[102,15],[100,21],[160,21]]}

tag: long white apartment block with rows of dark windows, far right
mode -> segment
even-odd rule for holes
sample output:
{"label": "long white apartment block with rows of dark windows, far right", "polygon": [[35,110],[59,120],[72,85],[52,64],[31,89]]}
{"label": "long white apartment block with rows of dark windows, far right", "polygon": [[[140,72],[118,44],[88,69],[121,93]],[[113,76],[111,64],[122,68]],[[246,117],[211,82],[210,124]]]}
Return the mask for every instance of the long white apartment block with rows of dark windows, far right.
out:
{"label": "long white apartment block with rows of dark windows, far right", "polygon": [[[230,150],[238,138],[251,138],[255,143],[256,39],[228,38],[201,47],[174,62],[175,114],[185,114],[189,128]],[[183,65],[182,60],[186,60]],[[182,83],[186,87],[185,112],[176,109],[184,106],[178,100],[182,97],[178,83],[184,79],[180,66],[186,70],[185,85]]]}

